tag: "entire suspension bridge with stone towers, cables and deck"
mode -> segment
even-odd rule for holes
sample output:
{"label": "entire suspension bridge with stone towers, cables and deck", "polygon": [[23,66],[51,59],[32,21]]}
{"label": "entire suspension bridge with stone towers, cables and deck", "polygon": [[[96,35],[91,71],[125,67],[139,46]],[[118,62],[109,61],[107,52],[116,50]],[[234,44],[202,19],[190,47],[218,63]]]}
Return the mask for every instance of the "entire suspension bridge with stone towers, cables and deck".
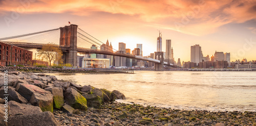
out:
{"label": "entire suspension bridge with stone towers, cables and deck", "polygon": [[58,46],[61,49],[64,63],[70,63],[73,66],[76,66],[77,64],[77,54],[79,53],[111,55],[153,62],[155,63],[156,71],[162,71],[164,65],[177,67],[176,65],[163,61],[163,52],[155,52],[155,57],[152,59],[132,54],[119,53],[117,50],[116,52],[113,52],[88,48],[89,45],[100,46],[104,43],[78,28],[76,24],[70,24],[69,26],[58,29],[0,38],[0,41],[26,49],[41,49],[42,46],[52,43],[52,46]]}

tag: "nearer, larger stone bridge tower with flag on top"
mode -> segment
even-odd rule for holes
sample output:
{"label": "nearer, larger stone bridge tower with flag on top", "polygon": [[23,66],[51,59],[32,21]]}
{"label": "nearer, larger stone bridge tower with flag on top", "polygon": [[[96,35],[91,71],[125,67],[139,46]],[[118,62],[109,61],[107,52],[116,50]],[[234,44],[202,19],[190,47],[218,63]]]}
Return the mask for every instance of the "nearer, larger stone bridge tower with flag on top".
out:
{"label": "nearer, larger stone bridge tower with flag on top", "polygon": [[60,27],[59,45],[69,47],[69,51],[62,52],[63,63],[77,66],[77,25]]}

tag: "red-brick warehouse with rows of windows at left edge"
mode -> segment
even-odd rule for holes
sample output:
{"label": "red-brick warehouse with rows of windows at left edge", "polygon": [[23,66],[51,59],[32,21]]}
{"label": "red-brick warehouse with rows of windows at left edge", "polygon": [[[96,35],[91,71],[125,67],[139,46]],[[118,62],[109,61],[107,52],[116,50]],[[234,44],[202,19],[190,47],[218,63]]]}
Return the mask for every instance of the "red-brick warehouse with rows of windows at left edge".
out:
{"label": "red-brick warehouse with rows of windows at left edge", "polygon": [[32,65],[32,52],[27,49],[0,42],[0,65]]}

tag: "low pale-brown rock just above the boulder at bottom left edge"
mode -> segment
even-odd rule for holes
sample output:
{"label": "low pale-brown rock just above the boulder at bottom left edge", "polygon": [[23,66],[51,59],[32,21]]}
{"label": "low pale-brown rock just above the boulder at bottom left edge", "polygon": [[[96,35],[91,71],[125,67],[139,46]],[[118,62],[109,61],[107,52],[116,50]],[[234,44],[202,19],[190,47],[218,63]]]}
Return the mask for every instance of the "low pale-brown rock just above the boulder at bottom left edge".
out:
{"label": "low pale-brown rock just above the boulder at bottom left edge", "polygon": [[20,113],[23,113],[24,115],[29,115],[42,112],[42,110],[38,106],[20,104],[15,102],[14,100],[11,100],[8,104],[10,106],[9,115],[11,116]]}

